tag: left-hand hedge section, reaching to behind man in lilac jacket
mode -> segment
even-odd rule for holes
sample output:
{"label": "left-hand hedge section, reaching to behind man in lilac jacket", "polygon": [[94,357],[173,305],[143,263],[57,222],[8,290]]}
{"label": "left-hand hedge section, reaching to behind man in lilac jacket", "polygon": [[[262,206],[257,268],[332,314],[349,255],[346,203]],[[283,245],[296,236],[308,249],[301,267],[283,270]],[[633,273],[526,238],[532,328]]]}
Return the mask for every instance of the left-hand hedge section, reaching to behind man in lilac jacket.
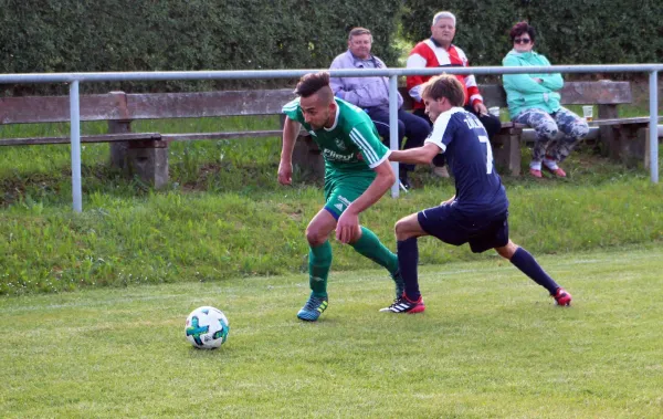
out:
{"label": "left-hand hedge section, reaching to behind man in lilac jacket", "polygon": [[[391,45],[401,3],[386,0],[376,8],[368,0],[12,1],[0,15],[0,73],[324,69],[346,49],[347,32],[356,25],[370,28],[375,52],[393,64],[398,53]],[[182,91],[260,84],[85,83],[82,90]],[[24,85],[6,90],[14,94],[63,91]]]}

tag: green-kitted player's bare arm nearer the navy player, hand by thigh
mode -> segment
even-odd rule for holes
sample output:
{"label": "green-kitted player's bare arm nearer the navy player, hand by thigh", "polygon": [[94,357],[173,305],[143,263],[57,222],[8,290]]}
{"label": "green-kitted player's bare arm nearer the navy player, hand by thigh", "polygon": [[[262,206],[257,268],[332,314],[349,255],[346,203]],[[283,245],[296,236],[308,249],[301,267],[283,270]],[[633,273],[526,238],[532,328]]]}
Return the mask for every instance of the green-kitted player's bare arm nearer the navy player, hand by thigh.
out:
{"label": "green-kitted player's bare arm nearer the navy player, hand by thigh", "polygon": [[370,186],[346,208],[336,224],[336,239],[349,243],[359,230],[359,213],[376,203],[396,181],[396,175],[389,161],[385,160],[373,168],[376,178]]}

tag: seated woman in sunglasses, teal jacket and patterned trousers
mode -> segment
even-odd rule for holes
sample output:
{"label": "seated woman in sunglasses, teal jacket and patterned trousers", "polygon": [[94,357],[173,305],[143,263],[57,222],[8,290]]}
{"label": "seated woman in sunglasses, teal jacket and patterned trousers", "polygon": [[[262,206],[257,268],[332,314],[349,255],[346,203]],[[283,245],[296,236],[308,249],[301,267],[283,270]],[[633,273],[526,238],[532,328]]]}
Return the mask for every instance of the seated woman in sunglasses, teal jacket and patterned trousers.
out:
{"label": "seated woman in sunglasses, teal jacket and patterned trousers", "polygon": [[[514,49],[502,60],[504,66],[549,66],[541,54],[532,51],[536,31],[527,22],[516,23],[509,32]],[[559,73],[505,74],[504,90],[513,122],[525,124],[536,132],[529,174],[541,177],[541,169],[566,177],[558,166],[573,146],[589,133],[587,122],[559,104],[564,80]],[[564,137],[556,139],[558,130]]]}

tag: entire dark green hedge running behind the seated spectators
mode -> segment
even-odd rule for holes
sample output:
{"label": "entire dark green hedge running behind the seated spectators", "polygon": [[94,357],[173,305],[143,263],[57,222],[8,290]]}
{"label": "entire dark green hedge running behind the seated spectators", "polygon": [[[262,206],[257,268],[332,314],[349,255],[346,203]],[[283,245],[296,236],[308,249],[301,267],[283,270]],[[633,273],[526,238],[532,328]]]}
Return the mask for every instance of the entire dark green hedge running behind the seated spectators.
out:
{"label": "entire dark green hedge running behind the seated spectators", "polygon": [[[0,0],[0,73],[324,69],[350,28],[397,65],[396,34],[430,35],[433,14],[459,19],[454,43],[472,65],[499,65],[508,29],[528,20],[552,64],[661,62],[663,1],[642,0]],[[399,29],[399,24],[401,24]],[[290,86],[294,81],[84,83],[82,92]],[[4,94],[66,86],[2,86]]]}

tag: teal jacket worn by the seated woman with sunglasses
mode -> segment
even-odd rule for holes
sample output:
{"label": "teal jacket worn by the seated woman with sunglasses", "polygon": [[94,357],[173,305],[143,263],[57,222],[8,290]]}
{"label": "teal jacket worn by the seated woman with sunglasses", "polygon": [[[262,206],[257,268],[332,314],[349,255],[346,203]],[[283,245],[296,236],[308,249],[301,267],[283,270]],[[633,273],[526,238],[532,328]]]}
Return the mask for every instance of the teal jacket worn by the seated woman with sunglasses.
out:
{"label": "teal jacket worn by the seated woman with sunglasses", "polygon": [[[550,62],[534,51],[520,53],[511,50],[502,60],[502,65],[506,67],[549,66]],[[557,91],[564,86],[561,74],[504,74],[502,78],[512,119],[523,111],[533,107],[549,114],[559,111]],[[537,83],[534,78],[540,78],[543,82]]]}

